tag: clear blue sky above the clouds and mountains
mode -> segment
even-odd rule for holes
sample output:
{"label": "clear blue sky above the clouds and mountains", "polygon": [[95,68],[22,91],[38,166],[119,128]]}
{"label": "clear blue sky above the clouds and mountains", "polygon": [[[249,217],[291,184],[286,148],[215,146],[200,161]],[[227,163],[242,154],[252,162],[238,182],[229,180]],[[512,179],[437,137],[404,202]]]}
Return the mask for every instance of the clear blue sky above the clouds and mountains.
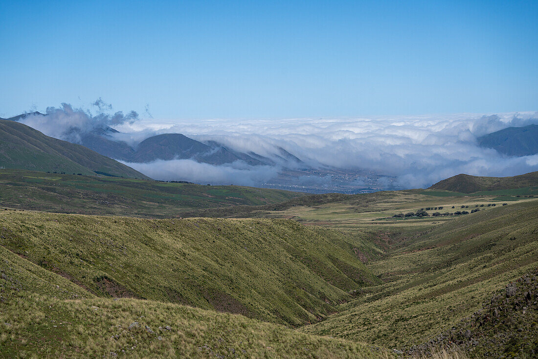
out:
{"label": "clear blue sky above the clouds and mountains", "polygon": [[0,116],[535,111],[537,24],[537,1],[0,0]]}

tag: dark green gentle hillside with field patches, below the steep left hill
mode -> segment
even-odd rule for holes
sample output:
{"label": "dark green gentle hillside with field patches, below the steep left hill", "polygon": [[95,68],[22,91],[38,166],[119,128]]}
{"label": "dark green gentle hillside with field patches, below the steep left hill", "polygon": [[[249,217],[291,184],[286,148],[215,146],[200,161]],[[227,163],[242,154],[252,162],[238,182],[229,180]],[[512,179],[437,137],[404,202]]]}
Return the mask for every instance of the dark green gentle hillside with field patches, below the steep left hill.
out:
{"label": "dark green gentle hillside with field patches, below the steep left hill", "polygon": [[0,169],[0,205],[51,212],[171,217],[195,208],[268,204],[301,193]]}

